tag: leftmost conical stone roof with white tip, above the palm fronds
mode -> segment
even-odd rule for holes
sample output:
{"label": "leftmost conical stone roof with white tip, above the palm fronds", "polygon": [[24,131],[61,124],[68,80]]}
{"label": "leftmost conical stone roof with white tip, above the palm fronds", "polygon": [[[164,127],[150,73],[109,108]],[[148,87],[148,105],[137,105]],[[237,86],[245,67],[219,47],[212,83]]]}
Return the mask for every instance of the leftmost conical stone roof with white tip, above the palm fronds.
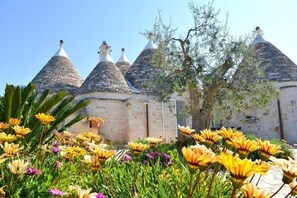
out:
{"label": "leftmost conical stone roof with white tip, above the palm fronds", "polygon": [[37,84],[38,92],[51,89],[52,93],[66,90],[75,94],[83,83],[82,77],[63,49],[63,44],[61,40],[60,49],[33,78],[32,83]]}

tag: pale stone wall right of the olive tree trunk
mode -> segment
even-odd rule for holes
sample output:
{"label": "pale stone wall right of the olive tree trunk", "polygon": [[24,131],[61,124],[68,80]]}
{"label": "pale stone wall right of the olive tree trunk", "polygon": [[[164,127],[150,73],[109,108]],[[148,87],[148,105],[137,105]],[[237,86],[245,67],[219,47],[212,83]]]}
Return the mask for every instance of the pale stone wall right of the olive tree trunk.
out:
{"label": "pale stone wall right of the olive tree trunk", "polygon": [[[283,136],[288,143],[297,143],[297,83],[279,82],[275,87],[278,98],[265,108],[249,107],[242,112],[233,111],[231,119],[223,120],[223,125],[242,127],[244,133],[252,133],[264,139]],[[283,135],[281,135],[280,120]]]}

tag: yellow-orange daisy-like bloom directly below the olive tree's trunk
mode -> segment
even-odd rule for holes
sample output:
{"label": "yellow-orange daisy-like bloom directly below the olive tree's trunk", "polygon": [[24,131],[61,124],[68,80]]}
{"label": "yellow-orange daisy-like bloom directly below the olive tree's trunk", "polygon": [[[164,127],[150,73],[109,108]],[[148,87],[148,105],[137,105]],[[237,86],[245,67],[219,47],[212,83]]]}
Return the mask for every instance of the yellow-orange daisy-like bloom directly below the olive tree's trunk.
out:
{"label": "yellow-orange daisy-like bloom directly below the olive tree's trunk", "polygon": [[[200,136],[200,137],[199,137]],[[203,142],[206,144],[206,146],[209,148],[211,147],[215,142],[222,139],[222,136],[220,136],[218,133],[212,132],[209,129],[204,129],[201,131],[201,134],[194,134],[193,135],[194,140],[197,143]]]}

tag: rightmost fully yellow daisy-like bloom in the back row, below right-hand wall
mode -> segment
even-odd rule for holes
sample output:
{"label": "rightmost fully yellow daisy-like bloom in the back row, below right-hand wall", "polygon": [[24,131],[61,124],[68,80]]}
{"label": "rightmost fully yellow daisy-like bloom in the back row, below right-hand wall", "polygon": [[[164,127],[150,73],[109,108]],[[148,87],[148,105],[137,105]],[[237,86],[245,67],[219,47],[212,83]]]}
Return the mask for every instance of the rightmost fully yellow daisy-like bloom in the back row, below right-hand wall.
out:
{"label": "rightmost fully yellow daisy-like bloom in the back row, below right-hand wall", "polygon": [[277,153],[282,153],[281,147],[275,144],[270,143],[270,141],[258,140],[260,146],[259,153],[263,161],[267,161],[271,156],[274,156]]}

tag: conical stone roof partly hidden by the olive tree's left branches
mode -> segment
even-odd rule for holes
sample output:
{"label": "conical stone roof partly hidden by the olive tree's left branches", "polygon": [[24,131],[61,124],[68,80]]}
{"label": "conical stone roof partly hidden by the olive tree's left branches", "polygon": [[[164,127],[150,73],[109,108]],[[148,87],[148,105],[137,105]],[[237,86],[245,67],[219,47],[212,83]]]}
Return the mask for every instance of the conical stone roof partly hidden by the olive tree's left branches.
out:
{"label": "conical stone roof partly hidden by the olive tree's left branches", "polygon": [[155,77],[161,72],[153,61],[157,46],[153,43],[151,35],[149,39],[149,43],[125,75],[133,87],[143,92],[148,91],[148,86],[154,84]]}

